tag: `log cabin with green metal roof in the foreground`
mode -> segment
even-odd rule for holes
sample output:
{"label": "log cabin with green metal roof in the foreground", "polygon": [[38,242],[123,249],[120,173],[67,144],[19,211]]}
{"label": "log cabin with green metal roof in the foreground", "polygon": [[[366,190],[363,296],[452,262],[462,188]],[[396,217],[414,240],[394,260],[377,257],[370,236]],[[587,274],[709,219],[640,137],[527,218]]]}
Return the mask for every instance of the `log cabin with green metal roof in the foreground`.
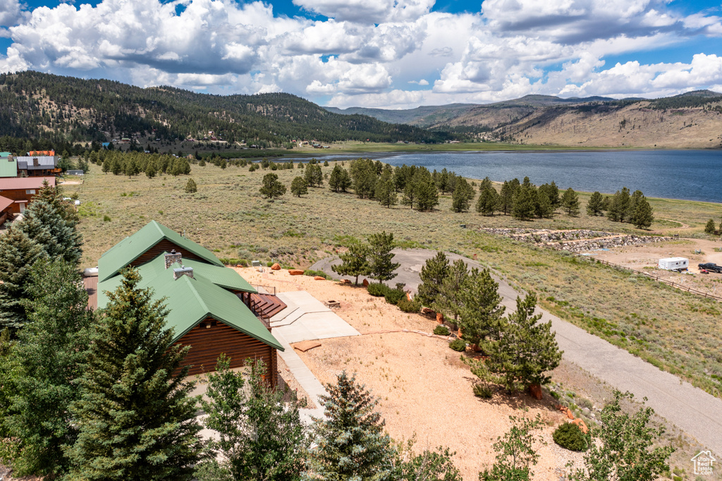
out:
{"label": "log cabin with green metal roof in the foreground", "polygon": [[271,334],[269,316],[285,308],[276,296],[259,294],[211,251],[153,220],[100,257],[97,308],[108,304],[105,292],[116,290],[128,266],[138,269],[139,287],[165,299],[173,342],[191,346],[184,363],[192,366],[191,374],[214,371],[225,352],[232,368],[248,359],[264,360],[265,377],[276,384],[277,350],[283,347]]}

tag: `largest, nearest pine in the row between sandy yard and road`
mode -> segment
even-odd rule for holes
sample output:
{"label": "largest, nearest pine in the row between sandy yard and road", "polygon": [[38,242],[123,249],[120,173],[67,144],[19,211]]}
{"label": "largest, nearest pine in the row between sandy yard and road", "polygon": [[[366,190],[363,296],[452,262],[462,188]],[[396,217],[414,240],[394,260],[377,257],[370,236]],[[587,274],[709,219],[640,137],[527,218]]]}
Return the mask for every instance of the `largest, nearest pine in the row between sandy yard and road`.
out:
{"label": "largest, nearest pine in the row between sandy yard and road", "polygon": [[472,373],[484,381],[503,384],[510,392],[549,382],[546,373],[559,365],[562,352],[554,339],[552,322],[539,323],[541,314],[535,316],[535,308],[535,295],[516,299],[516,311],[500,327],[502,335],[484,343],[489,358],[470,362]]}

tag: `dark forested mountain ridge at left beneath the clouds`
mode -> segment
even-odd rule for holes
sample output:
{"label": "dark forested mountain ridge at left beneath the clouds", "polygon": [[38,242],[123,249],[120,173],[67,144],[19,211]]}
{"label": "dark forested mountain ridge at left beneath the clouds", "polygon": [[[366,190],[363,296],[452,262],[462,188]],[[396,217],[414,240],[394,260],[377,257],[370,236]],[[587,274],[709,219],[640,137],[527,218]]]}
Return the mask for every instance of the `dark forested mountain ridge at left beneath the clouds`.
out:
{"label": "dark forested mountain ridge at left beneath the clouds", "polygon": [[175,87],[141,88],[103,79],[24,71],[0,74],[0,136],[65,142],[104,142],[124,136],[202,138],[289,146],[319,142],[443,142],[452,138],[370,116],[331,113],[285,93],[209,95]]}

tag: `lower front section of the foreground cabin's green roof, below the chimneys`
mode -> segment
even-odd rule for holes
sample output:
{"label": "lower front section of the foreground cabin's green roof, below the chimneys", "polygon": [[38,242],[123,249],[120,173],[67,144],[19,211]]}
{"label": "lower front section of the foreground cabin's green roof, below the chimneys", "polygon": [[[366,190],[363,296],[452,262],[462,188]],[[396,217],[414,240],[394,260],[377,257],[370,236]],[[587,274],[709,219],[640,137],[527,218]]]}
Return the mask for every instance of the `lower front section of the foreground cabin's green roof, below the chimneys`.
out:
{"label": "lower front section of the foreground cabin's green roof, below the chimneys", "polygon": [[[186,261],[184,261],[184,265],[190,267]],[[179,266],[174,264],[173,267]],[[173,280],[173,267],[165,269],[165,259],[161,254],[153,261],[138,268],[138,273],[141,275],[138,287],[152,288],[153,299],[166,298],[164,302],[168,308],[168,316],[165,322],[167,327],[174,329],[173,342],[181,339],[186,332],[193,329],[206,316],[211,316],[254,339],[283,350],[281,343],[261,324],[261,321],[253,315],[238,296],[215,285],[206,277],[196,274],[195,268],[193,270],[194,279],[181,276],[178,280]],[[238,275],[231,269],[226,270]],[[100,282],[97,288],[98,308],[108,305],[106,292],[116,290],[121,285],[122,279],[123,276],[118,274]]]}

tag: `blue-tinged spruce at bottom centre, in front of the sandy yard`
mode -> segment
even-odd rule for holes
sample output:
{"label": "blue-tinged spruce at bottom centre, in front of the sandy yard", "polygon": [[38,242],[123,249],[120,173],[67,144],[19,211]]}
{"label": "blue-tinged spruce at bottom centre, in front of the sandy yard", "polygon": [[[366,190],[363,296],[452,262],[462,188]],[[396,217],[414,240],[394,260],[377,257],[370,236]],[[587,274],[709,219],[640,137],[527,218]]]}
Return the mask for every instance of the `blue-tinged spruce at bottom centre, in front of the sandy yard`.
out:
{"label": "blue-tinged spruce at bottom centre, in front of the sandy yard", "polygon": [[316,420],[307,480],[385,481],[391,477],[393,447],[375,411],[378,399],[346,371],[321,396],[326,418]]}

